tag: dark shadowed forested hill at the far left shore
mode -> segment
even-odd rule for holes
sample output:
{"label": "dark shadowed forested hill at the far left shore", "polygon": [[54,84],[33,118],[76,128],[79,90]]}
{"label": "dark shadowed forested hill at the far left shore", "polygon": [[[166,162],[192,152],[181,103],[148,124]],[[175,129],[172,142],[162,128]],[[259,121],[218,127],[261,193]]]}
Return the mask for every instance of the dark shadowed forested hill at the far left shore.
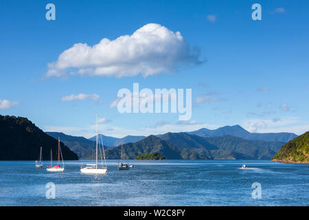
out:
{"label": "dark shadowed forested hill at the far left shore", "polygon": [[[0,115],[0,160],[36,160],[40,146],[43,159],[55,158],[58,140],[50,137],[27,118]],[[78,159],[78,155],[62,142],[63,159]]]}

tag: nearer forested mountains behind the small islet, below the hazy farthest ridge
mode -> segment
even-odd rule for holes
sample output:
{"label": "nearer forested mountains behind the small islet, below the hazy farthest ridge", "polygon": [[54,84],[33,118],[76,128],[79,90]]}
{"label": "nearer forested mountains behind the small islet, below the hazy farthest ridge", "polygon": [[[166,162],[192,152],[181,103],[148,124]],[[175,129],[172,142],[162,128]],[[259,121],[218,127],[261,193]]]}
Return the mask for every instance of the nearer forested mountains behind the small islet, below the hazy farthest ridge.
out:
{"label": "nearer forested mountains behind the small islet, below the hazy farthest ridge", "polygon": [[[159,153],[167,159],[271,159],[282,144],[231,135],[200,137],[187,133],[165,133],[160,137],[150,135],[139,142],[124,144],[123,157],[134,159],[139,154]],[[121,146],[108,149],[106,156],[119,159]]]}

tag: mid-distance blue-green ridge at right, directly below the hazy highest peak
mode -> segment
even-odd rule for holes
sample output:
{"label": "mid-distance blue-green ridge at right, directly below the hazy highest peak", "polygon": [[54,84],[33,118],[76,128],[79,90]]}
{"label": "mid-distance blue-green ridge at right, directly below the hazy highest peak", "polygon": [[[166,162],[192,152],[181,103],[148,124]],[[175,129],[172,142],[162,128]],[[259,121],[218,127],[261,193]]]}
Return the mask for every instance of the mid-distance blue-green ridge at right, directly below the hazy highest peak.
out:
{"label": "mid-distance blue-green ridge at right, directly below the hazy highest peak", "polygon": [[160,138],[180,148],[190,148],[200,155],[207,155],[210,159],[271,159],[284,144],[231,135],[201,137],[187,133],[165,133]]}

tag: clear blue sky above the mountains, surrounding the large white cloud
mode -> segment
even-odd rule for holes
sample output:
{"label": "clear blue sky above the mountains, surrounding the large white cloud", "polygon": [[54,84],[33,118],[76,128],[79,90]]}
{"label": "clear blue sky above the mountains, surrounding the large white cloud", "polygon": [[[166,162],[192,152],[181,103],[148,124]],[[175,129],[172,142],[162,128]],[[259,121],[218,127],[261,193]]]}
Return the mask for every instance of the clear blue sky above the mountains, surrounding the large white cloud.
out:
{"label": "clear blue sky above the mountains, surrounding the large white cloud", "polygon": [[[56,5],[56,21],[45,19],[47,3]],[[262,5],[261,21],[251,19],[253,3]],[[44,131],[84,137],[93,135],[97,113],[100,132],[115,137],[233,124],[260,133],[304,133],[309,130],[308,8],[308,1],[1,1],[0,114],[27,117]],[[180,32],[187,52],[198,48],[198,60],[206,62],[185,65],[178,56],[182,50],[170,40],[163,42],[168,51],[162,57],[176,60],[174,70],[160,54],[155,54],[158,61],[135,57],[131,64],[112,48],[113,61],[104,67],[113,63],[122,74],[81,75],[80,68],[69,74],[69,67],[60,76],[47,76],[48,64],[74,44],[92,47],[151,23]],[[154,45],[150,41],[144,50],[155,51]],[[139,59],[163,71],[128,76]],[[105,60],[99,56],[100,62]],[[153,91],[192,89],[191,120],[179,122],[178,113],[119,113],[111,103],[119,89],[132,91],[133,83]],[[63,100],[79,94],[87,98]]]}

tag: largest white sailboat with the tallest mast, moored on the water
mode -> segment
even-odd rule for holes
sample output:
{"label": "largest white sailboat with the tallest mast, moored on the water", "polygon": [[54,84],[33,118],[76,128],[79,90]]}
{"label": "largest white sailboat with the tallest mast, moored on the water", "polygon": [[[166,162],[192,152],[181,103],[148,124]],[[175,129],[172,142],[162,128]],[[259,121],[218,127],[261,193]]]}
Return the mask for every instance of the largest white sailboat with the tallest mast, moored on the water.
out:
{"label": "largest white sailboat with the tallest mast, moored on the water", "polygon": [[102,136],[101,136],[101,142],[102,142],[102,150],[103,150],[103,155],[104,155],[105,167],[103,166],[101,150],[100,150],[100,155],[101,155],[102,167],[98,166],[98,117],[99,117],[99,115],[97,115],[97,139],[96,139],[96,143],[95,143],[95,164],[86,164],[86,167],[84,167],[84,168],[82,166],[80,166],[80,172],[82,172],[82,173],[106,174],[106,172],[107,172],[107,165],[106,165]]}

